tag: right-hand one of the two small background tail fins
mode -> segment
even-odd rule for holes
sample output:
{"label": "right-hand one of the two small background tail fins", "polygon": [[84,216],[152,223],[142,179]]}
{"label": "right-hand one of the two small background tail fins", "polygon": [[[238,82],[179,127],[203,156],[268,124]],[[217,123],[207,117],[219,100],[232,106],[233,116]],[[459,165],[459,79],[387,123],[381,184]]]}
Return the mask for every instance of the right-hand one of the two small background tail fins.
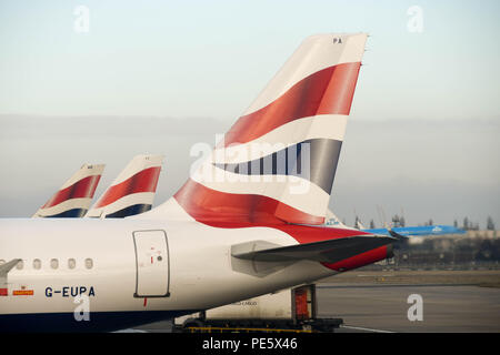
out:
{"label": "right-hand one of the two small background tail fins", "polygon": [[86,217],[122,219],[151,210],[163,155],[137,155]]}

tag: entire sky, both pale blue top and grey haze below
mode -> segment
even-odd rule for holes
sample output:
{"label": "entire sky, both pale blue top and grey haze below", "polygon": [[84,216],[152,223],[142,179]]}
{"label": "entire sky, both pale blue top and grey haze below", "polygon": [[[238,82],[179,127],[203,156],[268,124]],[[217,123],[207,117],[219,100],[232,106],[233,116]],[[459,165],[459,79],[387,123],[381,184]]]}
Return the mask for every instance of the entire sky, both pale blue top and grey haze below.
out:
{"label": "entire sky, both pale blue top and grey haze below", "polygon": [[[83,6],[88,31],[76,29]],[[414,9],[421,31],[409,29]],[[1,1],[0,216],[163,153],[157,202],[312,33],[368,32],[331,206],[500,224],[498,1]],[[356,212],[354,212],[356,211]]]}

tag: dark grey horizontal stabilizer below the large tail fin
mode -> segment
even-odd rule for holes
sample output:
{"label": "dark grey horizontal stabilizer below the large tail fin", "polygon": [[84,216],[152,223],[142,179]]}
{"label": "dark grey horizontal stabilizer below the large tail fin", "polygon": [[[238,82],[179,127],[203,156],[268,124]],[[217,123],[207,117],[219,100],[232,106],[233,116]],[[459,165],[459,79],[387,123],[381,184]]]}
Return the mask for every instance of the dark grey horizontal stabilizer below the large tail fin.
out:
{"label": "dark grey horizontal stabilizer below the large tail fin", "polygon": [[356,235],[314,243],[263,248],[263,241],[234,245],[231,255],[253,262],[290,262],[310,260],[336,263],[348,257],[390,244],[397,240],[384,235]]}

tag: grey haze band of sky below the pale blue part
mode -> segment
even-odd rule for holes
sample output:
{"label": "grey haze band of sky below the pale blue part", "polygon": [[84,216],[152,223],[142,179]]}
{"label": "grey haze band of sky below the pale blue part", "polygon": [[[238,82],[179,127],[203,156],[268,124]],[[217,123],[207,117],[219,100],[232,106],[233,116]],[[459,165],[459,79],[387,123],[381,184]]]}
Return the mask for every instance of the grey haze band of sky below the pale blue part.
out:
{"label": "grey haze band of sky below the pale blue part", "polygon": [[[186,122],[189,121],[189,125]],[[0,115],[0,216],[31,216],[84,162],[107,163],[99,196],[139,153],[166,155],[154,205],[186,181],[198,142],[214,144],[231,122],[171,118]],[[351,119],[330,206],[380,225],[403,209],[409,223],[451,224],[464,216],[500,223],[498,120]]]}

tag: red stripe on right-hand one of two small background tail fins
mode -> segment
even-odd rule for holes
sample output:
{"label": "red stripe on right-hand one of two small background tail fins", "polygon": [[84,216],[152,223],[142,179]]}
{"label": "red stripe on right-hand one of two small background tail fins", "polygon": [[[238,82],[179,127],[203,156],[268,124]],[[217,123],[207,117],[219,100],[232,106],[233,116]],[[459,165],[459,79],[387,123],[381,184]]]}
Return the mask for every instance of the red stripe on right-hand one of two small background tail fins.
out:
{"label": "red stripe on right-hand one of two small background tail fins", "polygon": [[113,203],[114,201],[132,193],[157,191],[160,170],[160,166],[144,169],[126,181],[111,186],[96,203],[96,209],[107,206],[110,203]]}

